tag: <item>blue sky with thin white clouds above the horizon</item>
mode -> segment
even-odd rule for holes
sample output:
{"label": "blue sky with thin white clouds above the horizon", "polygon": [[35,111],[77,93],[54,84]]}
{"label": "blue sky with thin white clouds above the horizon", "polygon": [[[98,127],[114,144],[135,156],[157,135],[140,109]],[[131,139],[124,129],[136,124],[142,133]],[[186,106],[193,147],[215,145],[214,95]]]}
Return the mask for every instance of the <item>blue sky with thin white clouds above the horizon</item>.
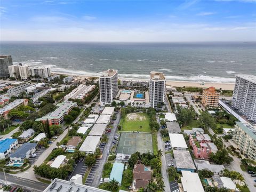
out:
{"label": "blue sky with thin white clouds above the horizon", "polygon": [[256,0],[1,0],[1,41],[256,41]]}

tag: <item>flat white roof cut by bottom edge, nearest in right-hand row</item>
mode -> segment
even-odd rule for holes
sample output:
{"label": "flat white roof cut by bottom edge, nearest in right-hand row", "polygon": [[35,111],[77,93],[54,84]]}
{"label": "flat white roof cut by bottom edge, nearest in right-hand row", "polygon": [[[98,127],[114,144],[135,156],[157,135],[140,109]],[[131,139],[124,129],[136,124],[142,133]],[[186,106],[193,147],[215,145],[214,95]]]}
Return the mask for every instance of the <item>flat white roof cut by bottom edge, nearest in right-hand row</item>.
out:
{"label": "flat white roof cut by bottom edge, nearest in right-hand row", "polygon": [[204,192],[204,188],[197,173],[181,171],[181,183],[186,192]]}

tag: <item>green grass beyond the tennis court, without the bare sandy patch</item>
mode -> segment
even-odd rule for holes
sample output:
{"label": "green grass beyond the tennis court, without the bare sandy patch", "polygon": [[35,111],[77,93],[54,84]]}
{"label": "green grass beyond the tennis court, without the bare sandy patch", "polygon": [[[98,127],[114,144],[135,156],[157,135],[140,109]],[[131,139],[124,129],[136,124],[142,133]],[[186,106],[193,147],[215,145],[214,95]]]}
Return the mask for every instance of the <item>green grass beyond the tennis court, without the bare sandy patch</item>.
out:
{"label": "green grass beyond the tennis court, without the bare sandy patch", "polygon": [[[127,116],[121,122],[121,131],[142,131],[142,132],[152,132],[149,126],[149,116],[147,114],[136,113],[139,116],[143,116],[145,120],[128,120]],[[142,126],[140,128],[140,125]]]}

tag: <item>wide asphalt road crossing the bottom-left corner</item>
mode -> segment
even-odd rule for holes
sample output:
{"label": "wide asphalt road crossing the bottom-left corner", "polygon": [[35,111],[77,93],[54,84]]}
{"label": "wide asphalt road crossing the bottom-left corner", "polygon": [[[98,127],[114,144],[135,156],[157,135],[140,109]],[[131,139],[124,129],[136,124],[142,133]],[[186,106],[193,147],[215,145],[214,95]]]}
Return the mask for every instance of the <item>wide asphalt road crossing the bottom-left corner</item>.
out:
{"label": "wide asphalt road crossing the bottom-left corner", "polygon": [[[27,178],[20,178],[7,173],[5,173],[5,175],[7,182],[14,183],[15,185],[18,185],[20,187],[29,188],[35,192],[43,191],[48,186],[45,183],[33,181]],[[0,180],[5,181],[3,172],[0,172]]]}

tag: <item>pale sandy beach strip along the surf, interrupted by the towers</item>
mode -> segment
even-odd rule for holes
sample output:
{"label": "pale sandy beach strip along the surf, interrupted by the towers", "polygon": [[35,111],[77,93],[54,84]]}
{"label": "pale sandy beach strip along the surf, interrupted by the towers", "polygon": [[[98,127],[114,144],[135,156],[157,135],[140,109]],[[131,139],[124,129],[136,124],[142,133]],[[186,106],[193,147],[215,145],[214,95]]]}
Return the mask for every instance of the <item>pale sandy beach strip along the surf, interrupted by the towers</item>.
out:
{"label": "pale sandy beach strip along the surf, interrupted by the towers", "polygon": [[[74,76],[77,79],[82,78],[91,78],[91,77],[99,77],[99,76],[88,76],[88,75],[77,75],[72,73],[60,73],[60,72],[53,72],[51,71],[51,74],[57,74],[57,75],[69,75]],[[148,80],[148,79],[139,79],[139,78],[124,78],[124,77],[118,77],[118,79],[132,79],[132,80]],[[173,87],[202,87],[202,88],[208,88],[210,86],[214,86],[215,89],[222,89],[222,90],[234,90],[235,83],[215,83],[215,82],[204,82],[204,85],[202,85],[202,82],[190,82],[190,81],[174,81],[174,80],[166,80],[166,85],[173,86]]]}

